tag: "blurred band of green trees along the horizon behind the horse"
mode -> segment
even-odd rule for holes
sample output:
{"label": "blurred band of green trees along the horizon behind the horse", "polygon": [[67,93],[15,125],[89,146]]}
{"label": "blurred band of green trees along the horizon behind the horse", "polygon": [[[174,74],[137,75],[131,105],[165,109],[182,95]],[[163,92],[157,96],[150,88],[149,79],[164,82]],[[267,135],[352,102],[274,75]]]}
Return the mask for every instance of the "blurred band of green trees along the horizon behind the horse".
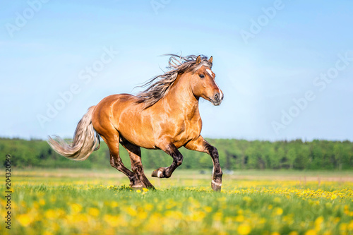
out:
{"label": "blurred band of green trees along the horizon behind the horse", "polygon": [[[349,141],[313,140],[293,141],[248,141],[234,139],[208,139],[217,147],[221,167],[235,169],[353,169],[353,143]],[[181,169],[212,169],[209,155],[201,152],[180,149],[184,155]],[[121,158],[126,167],[130,159],[124,147],[120,148]],[[83,162],[75,162],[54,152],[44,140],[22,140],[0,138],[1,161],[11,155],[12,167],[45,168],[86,168],[102,169],[110,167],[109,150],[104,142]],[[172,157],[162,150],[142,149],[145,169],[168,167]]]}

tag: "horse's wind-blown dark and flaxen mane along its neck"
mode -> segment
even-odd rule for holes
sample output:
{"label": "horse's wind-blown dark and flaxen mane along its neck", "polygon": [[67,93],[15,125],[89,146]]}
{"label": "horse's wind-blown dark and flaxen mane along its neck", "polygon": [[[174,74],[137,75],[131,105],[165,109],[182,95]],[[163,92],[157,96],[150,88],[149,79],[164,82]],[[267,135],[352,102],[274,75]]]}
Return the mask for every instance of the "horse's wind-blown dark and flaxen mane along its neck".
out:
{"label": "horse's wind-blown dark and flaxen mane along its neck", "polygon": [[207,56],[203,55],[201,55],[200,64],[196,64],[197,56],[195,55],[178,56],[176,54],[165,54],[165,56],[171,56],[169,58],[169,65],[167,66],[167,68],[171,70],[148,80],[147,83],[141,86],[148,88],[137,95],[137,97],[140,98],[138,102],[144,103],[144,109],[151,107],[168,93],[174,81],[177,79],[178,74],[190,71],[195,73],[201,66],[212,67],[212,63],[208,61]]}

